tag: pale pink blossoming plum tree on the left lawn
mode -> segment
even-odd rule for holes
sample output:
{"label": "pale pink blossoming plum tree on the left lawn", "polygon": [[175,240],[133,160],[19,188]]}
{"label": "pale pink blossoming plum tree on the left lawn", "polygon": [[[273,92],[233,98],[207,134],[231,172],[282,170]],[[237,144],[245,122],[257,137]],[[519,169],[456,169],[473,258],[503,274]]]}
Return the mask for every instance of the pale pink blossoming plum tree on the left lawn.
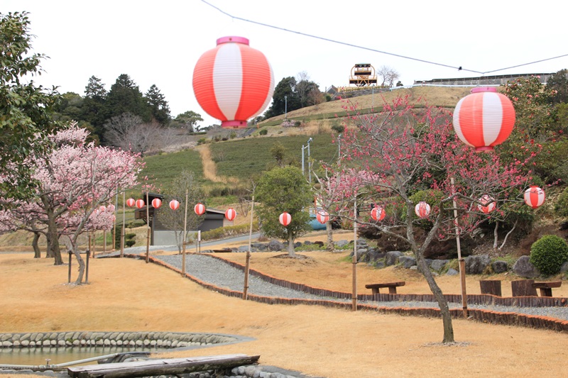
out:
{"label": "pale pink blossoming plum tree on the left lawn", "polygon": [[77,238],[89,229],[111,228],[109,208],[102,211],[100,206],[112,201],[116,188],[136,186],[143,167],[139,155],[86,143],[88,135],[76,123],[51,135],[55,148],[29,162],[38,182],[35,200],[19,204],[18,213],[9,211],[0,217],[11,218],[12,228],[37,228],[45,233],[55,265],[62,264],[59,237],[67,236],[67,247],[80,265],[77,283],[82,282],[84,272]]}

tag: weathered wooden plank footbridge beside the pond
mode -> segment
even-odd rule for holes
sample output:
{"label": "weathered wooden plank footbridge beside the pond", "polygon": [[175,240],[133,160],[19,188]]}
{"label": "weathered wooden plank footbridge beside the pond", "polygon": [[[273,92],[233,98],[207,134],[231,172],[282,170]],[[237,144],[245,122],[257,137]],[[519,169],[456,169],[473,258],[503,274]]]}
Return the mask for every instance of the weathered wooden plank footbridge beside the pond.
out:
{"label": "weathered wooden plank footbridge beside the pond", "polygon": [[126,378],[168,374],[175,375],[251,365],[258,363],[260,357],[261,356],[236,354],[118,362],[102,365],[68,367],[67,374],[74,378]]}

